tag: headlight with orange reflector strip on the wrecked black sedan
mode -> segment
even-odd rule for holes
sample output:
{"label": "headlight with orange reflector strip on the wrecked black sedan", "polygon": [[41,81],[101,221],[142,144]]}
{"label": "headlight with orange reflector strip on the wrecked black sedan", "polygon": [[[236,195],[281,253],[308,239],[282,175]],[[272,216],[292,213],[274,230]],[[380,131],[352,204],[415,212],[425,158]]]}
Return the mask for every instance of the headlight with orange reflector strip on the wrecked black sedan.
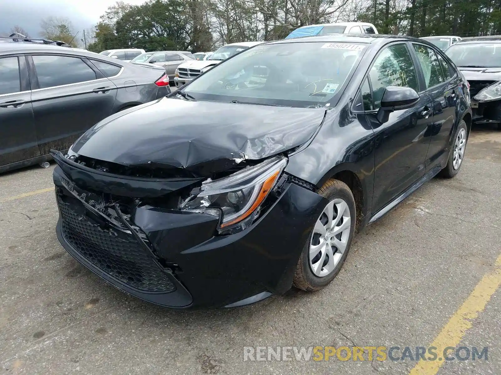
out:
{"label": "headlight with orange reflector strip on the wrecked black sedan", "polygon": [[238,223],[244,229],[259,214],[286,165],[286,157],[275,156],[230,176],[204,181],[179,208],[220,216],[219,229]]}

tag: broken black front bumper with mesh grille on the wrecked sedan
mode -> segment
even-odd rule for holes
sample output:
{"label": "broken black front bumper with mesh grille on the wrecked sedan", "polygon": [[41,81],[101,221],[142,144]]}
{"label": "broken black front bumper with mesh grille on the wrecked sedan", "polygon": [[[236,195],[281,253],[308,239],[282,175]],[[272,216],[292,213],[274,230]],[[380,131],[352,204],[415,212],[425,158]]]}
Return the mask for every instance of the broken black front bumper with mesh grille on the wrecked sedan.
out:
{"label": "broken black front bumper with mesh grille on the wrecked sedan", "polygon": [[[55,159],[62,245],[113,286],[172,308],[230,307],[287,291],[312,224],[327,203],[284,178],[255,222],[220,235],[217,217],[162,204],[158,191],[175,193],[181,180],[175,186],[141,182]],[[118,195],[115,190],[133,204],[113,203],[114,198],[106,203],[107,194]]]}

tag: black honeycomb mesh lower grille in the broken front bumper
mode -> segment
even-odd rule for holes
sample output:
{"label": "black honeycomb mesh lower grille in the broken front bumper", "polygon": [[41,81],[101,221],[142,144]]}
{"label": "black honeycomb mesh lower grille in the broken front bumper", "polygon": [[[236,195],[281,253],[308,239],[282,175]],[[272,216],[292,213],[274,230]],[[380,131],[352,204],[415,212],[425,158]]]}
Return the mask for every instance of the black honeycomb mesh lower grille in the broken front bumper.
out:
{"label": "black honeycomb mesh lower grille in the broken front bumper", "polygon": [[[109,275],[146,291],[173,291],[168,276],[141,247],[136,238],[116,229],[103,230],[83,214],[84,207],[65,201],[60,192],[57,201],[65,239],[87,260]],[[75,198],[70,198],[72,201]],[[82,210],[82,213],[77,211]]]}

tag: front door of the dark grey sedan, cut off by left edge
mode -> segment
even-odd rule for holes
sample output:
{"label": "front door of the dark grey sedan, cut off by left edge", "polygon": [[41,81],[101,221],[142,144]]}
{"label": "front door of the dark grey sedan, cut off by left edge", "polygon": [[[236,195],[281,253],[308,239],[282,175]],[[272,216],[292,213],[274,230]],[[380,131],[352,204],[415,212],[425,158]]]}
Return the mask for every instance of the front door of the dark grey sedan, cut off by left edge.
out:
{"label": "front door of the dark grey sedan, cut off by left edge", "polygon": [[0,58],[0,166],[40,156],[24,55]]}

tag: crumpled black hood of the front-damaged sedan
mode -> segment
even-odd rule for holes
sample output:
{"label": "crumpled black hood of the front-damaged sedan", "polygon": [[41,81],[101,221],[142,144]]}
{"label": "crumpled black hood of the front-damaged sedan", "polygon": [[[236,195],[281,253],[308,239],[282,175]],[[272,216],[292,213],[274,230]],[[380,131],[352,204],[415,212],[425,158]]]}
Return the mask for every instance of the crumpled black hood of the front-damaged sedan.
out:
{"label": "crumpled black hood of the front-damaged sedan", "polygon": [[227,169],[305,143],[325,111],[165,97],[104,119],[71,150],[126,166],[189,168],[225,160]]}

